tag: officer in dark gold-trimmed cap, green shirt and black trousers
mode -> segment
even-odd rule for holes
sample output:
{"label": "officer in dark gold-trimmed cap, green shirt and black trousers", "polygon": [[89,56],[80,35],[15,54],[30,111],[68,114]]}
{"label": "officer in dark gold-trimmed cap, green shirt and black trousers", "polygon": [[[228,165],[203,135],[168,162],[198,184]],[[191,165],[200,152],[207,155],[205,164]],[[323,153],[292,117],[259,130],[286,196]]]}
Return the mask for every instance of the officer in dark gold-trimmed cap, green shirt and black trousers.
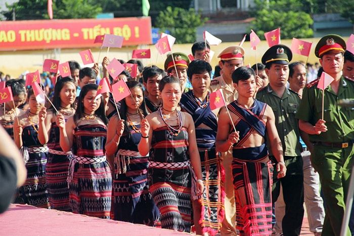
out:
{"label": "officer in dark gold-trimmed cap, green shirt and black trousers", "polygon": [[[262,57],[269,84],[261,88],[256,99],[272,107],[276,127],[283,146],[284,161],[287,167],[286,176],[278,179],[273,174],[272,201],[276,202],[280,194],[280,184],[283,188],[285,215],[282,221],[284,235],[299,235],[303,218],[303,168],[300,130],[295,118],[300,98],[296,92],[287,88],[289,77],[289,61],[292,59],[291,50],[282,44],[269,48]],[[303,133],[302,136],[307,134]],[[271,141],[267,140],[268,146]],[[277,163],[268,147],[269,157]]]}

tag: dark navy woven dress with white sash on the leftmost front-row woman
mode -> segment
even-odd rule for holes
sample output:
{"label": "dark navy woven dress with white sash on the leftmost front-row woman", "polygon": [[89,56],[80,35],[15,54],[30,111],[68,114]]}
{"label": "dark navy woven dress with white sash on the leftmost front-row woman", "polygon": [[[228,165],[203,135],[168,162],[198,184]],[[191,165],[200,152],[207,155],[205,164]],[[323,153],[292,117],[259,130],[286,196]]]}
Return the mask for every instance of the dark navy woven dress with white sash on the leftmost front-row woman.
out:
{"label": "dark navy woven dress with white sash on the leftmost front-row woman", "polygon": [[[35,127],[35,129],[34,129]],[[46,183],[47,146],[40,144],[35,124],[23,128],[23,147],[28,152],[26,163],[27,179],[19,187],[14,203],[50,208]],[[27,159],[27,158],[25,158]]]}

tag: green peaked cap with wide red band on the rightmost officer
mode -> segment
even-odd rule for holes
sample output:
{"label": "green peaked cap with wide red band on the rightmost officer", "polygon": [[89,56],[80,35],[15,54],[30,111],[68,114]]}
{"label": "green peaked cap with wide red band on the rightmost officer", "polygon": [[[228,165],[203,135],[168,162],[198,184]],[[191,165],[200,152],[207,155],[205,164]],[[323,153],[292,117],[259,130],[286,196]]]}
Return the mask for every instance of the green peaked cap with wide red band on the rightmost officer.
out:
{"label": "green peaked cap with wide red band on the rightmost officer", "polygon": [[317,43],[315,48],[315,55],[318,58],[331,50],[345,52],[346,44],[344,39],[337,34],[327,34],[323,36]]}

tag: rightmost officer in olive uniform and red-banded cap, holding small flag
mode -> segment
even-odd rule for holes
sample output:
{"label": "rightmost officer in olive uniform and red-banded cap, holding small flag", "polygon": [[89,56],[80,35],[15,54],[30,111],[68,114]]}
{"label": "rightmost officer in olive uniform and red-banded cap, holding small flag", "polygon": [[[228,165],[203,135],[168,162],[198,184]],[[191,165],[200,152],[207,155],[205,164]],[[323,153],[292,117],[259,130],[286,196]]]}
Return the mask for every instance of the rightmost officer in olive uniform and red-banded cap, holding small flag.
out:
{"label": "rightmost officer in olive uniform and red-banded cap, holding small flag", "polygon": [[[327,206],[324,236],[340,234],[354,155],[354,110],[337,105],[339,100],[354,99],[354,82],[341,75],[345,49],[345,41],[339,35],[329,34],[320,39],[315,54],[334,80],[324,91],[317,88],[319,80],[307,84],[296,114],[300,129],[314,143],[311,161],[320,175]],[[351,235],[349,230],[347,235]]]}

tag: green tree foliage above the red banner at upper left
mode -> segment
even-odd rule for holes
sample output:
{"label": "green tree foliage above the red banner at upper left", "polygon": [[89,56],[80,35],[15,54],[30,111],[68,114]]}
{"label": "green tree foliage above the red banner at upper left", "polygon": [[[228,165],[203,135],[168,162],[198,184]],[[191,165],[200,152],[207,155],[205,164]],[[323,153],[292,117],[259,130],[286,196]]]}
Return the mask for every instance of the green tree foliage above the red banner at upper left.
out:
{"label": "green tree foliage above the red banner at upper left", "polygon": [[[7,20],[39,20],[49,19],[47,0],[20,0],[12,5],[7,5],[8,11],[1,13]],[[54,19],[82,19],[95,18],[102,12],[102,8],[95,0],[54,0]]]}

